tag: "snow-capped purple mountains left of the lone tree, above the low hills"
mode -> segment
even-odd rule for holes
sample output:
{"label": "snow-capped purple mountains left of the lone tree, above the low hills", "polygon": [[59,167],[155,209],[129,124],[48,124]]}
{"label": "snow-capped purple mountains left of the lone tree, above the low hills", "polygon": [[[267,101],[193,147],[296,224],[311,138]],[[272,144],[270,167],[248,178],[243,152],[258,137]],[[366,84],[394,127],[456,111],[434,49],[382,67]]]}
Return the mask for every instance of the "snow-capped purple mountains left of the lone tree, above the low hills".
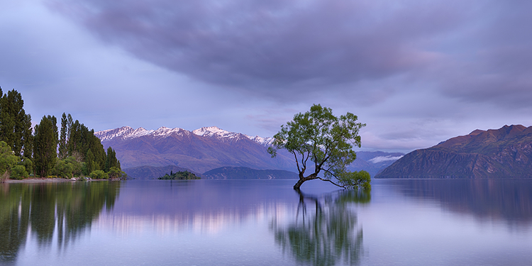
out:
{"label": "snow-capped purple mountains left of the lone tree, above the low hills", "polygon": [[116,128],[94,133],[104,147],[111,146],[123,168],[143,165],[177,165],[194,172],[218,167],[289,170],[295,163],[284,153],[272,159],[267,153],[271,138],[251,137],[220,128]]}

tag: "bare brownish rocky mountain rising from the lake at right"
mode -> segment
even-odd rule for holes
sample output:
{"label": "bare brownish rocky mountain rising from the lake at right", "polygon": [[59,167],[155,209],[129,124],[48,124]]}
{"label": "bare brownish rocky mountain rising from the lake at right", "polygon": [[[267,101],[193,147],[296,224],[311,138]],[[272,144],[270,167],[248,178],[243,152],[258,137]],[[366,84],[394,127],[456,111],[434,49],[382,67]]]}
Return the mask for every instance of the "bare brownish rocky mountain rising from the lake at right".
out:
{"label": "bare brownish rocky mountain rising from the lake at right", "polygon": [[404,155],[375,178],[531,178],[532,127],[475,130]]}

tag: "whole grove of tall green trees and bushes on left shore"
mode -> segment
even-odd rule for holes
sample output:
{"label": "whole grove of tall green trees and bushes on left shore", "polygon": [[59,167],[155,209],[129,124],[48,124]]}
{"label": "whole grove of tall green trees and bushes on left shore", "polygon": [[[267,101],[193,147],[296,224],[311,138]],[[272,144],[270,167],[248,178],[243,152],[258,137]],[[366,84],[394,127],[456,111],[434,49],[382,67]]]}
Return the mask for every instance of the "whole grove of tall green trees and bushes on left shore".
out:
{"label": "whole grove of tall green trees and bushes on left shore", "polygon": [[31,126],[23,109],[22,95],[15,89],[4,94],[0,88],[0,182],[28,177],[122,179],[115,151],[104,150],[94,129],[62,113],[61,126],[55,116],[43,116]]}

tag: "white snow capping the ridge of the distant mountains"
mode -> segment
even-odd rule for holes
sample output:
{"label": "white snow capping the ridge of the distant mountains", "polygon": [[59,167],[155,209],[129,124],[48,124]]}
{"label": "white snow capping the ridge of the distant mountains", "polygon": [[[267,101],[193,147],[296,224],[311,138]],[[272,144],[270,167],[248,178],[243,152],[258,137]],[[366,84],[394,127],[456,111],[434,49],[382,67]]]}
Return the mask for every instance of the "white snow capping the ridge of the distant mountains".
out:
{"label": "white snow capping the ridge of the distant mountains", "polygon": [[199,128],[194,131],[187,131],[183,128],[167,128],[162,126],[154,130],[146,130],[145,128],[133,129],[129,126],[123,126],[121,128],[109,129],[106,131],[95,132],[94,135],[98,137],[101,141],[112,140],[113,138],[129,139],[129,138],[139,138],[143,135],[151,135],[153,138],[165,138],[172,134],[177,135],[189,135],[193,133],[194,135],[200,135],[208,138],[220,138],[227,140],[238,140],[239,138],[248,138],[253,140],[255,143],[260,145],[269,146],[273,142],[273,138],[262,138],[258,135],[250,136],[242,133],[235,133],[231,131],[224,131],[221,128],[216,126],[209,126],[204,128]]}

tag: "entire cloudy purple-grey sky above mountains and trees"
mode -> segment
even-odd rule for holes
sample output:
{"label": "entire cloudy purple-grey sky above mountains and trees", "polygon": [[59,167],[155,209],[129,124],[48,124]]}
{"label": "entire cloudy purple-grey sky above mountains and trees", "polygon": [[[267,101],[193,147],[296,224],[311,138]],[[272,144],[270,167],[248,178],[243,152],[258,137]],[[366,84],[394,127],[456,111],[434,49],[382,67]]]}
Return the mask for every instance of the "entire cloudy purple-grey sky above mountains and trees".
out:
{"label": "entire cloudy purple-grey sky above mountains and trees", "polygon": [[532,126],[532,1],[0,1],[0,87],[33,123],[272,136],[312,104],[408,153]]}

